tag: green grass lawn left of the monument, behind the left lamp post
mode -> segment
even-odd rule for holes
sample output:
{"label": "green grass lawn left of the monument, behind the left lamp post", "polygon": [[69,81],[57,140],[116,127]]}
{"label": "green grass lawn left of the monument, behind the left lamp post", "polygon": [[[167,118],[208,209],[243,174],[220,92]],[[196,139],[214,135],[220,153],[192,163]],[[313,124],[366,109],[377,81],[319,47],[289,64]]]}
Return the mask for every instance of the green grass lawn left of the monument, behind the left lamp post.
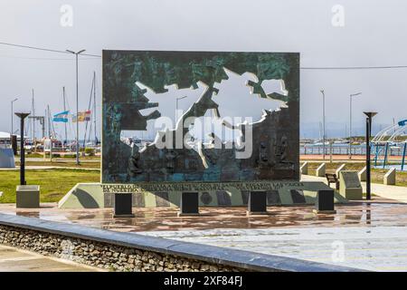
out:
{"label": "green grass lawn left of the monument, behind the left lamp post", "polygon": [[[71,188],[80,182],[99,182],[99,170],[39,169],[25,171],[27,184],[40,186],[41,202],[59,201]],[[20,171],[0,171],[0,203],[15,202],[15,187],[20,182]]]}

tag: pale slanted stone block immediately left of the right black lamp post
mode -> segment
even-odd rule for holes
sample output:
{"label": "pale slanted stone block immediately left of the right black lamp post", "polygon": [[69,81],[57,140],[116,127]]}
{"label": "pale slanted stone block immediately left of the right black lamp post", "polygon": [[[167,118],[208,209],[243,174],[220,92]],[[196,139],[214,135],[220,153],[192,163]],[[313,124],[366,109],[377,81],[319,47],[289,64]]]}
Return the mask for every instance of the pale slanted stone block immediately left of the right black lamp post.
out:
{"label": "pale slanted stone block immediately left of the right black lamp post", "polygon": [[339,194],[348,200],[362,200],[363,189],[357,171],[342,170],[339,173]]}

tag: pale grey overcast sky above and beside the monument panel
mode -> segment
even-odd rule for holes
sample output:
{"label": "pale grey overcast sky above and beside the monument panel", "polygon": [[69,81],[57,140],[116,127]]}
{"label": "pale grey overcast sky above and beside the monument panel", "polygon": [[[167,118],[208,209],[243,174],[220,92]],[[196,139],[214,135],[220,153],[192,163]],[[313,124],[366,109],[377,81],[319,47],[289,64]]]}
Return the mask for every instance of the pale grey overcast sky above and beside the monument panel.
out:
{"label": "pale grey overcast sky above and beside the monument panel", "polygon": [[[61,24],[61,18],[67,24],[62,5],[71,5],[72,26]],[[344,18],[332,12],[335,5],[342,5]],[[299,52],[302,67],[407,65],[406,15],[404,0],[1,0],[0,42],[91,54],[102,49]],[[80,110],[88,107],[93,71],[100,100],[100,69],[99,58],[80,57]],[[62,86],[73,109],[74,73],[70,54],[0,45],[0,131],[10,131],[14,97],[19,98],[15,111],[31,110],[32,89],[38,113],[47,104],[52,113],[62,111]],[[363,92],[354,101],[355,130],[364,128],[364,110],[379,111],[374,121],[381,124],[407,118],[407,68],[301,70],[302,136],[317,134],[321,88],[332,127],[328,136],[336,134],[334,128],[345,133],[354,92]]]}

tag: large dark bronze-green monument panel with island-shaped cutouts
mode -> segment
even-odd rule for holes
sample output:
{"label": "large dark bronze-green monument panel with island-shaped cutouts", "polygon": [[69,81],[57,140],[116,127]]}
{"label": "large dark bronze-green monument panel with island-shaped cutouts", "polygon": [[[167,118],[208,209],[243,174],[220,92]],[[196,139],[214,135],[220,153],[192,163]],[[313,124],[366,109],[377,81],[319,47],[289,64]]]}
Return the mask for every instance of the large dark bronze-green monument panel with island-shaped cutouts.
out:
{"label": "large dark bronze-green monument panel with island-shaped cutouts", "polygon": [[[109,53],[109,56],[113,54]],[[184,53],[175,54],[170,56],[183,59]],[[215,69],[213,65],[201,66],[196,73],[194,61],[202,62],[202,57],[199,53],[193,54],[197,56],[189,55],[192,62],[188,64],[198,77],[194,78],[196,82],[192,82],[190,87],[183,82],[182,73],[174,73],[176,66],[171,67],[171,62],[163,62],[163,67],[169,68],[169,72],[165,69],[163,72],[157,69],[159,65],[156,65],[156,70],[151,68],[151,63],[156,61],[151,56],[147,57],[150,63],[122,61],[120,70],[123,64],[134,65],[132,77],[128,77],[125,84],[132,85],[131,91],[137,92],[138,96],[127,98],[133,99],[127,102],[106,100],[105,91],[108,90],[104,88],[103,126],[104,131],[108,129],[108,136],[104,134],[104,137],[114,132],[116,140],[110,143],[116,143],[122,154],[113,154],[116,155],[115,160],[112,160],[113,156],[105,158],[103,154],[103,180],[134,183],[298,179],[298,152],[295,150],[298,149],[299,96],[291,97],[284,78],[278,78],[288,76],[293,79],[291,81],[296,83],[291,87],[295,89],[294,94],[298,94],[298,53],[283,53],[287,59],[277,57],[277,63],[258,63],[257,72],[251,70],[250,73],[242,68],[235,72],[233,68],[219,64],[214,66]],[[216,58],[216,53],[213,54],[206,64]],[[251,53],[244,54],[243,59],[252,56]],[[272,54],[276,55],[263,54],[269,54],[271,59]],[[112,64],[111,59],[109,64]],[[145,72],[137,72],[140,70],[136,68],[137,64],[153,73],[152,78],[147,77],[150,82],[143,82],[143,77],[139,77]],[[263,72],[267,69],[275,72]],[[109,84],[111,78],[105,74],[106,71],[104,81],[108,79],[105,83]],[[199,73],[203,71],[200,78]],[[165,85],[157,85],[155,73],[164,75],[164,82],[160,84]],[[176,77],[171,82],[169,79],[174,74]],[[267,74],[270,78],[264,77]],[[134,82],[130,84],[130,80]],[[116,88],[115,91],[121,90]],[[293,104],[294,108],[291,108]],[[144,140],[141,143],[134,142],[134,139],[129,141],[123,138],[124,135]],[[103,153],[106,147],[103,144]],[[117,168],[113,169],[109,163],[105,166],[106,161],[113,161]]]}

